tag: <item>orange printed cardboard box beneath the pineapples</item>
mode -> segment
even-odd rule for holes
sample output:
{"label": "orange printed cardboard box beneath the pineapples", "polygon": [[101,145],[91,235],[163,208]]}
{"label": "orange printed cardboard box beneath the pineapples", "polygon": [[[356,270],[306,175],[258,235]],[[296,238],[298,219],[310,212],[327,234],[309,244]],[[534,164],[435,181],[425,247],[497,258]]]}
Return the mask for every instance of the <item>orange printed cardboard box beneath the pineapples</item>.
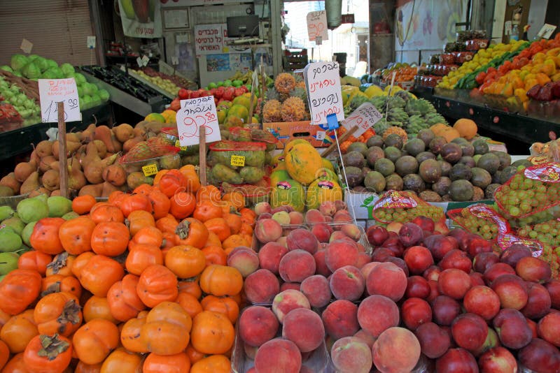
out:
{"label": "orange printed cardboard box beneath the pineapples", "polygon": [[327,136],[321,126],[313,126],[309,120],[302,122],[263,123],[262,129],[269,131],[278,139],[277,149],[283,149],[286,143],[296,138],[311,142],[314,147],[328,147],[334,140]]}

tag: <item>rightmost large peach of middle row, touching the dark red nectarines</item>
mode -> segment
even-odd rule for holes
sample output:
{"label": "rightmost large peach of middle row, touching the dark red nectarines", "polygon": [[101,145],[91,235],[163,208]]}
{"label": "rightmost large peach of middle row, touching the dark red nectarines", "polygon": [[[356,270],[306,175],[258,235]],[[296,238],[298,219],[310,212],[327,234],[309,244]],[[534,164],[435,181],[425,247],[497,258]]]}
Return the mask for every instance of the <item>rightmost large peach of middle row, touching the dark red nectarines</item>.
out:
{"label": "rightmost large peach of middle row, touching the dark red nectarines", "polygon": [[405,295],[407,276],[397,265],[381,263],[367,275],[365,287],[369,295],[384,295],[396,302]]}

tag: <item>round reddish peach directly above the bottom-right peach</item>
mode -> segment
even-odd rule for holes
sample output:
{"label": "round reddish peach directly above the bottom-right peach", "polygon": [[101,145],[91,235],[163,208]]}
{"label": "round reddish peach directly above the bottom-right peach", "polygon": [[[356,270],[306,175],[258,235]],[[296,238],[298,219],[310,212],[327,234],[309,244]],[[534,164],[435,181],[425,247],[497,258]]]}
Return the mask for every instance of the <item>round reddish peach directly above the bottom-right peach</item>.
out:
{"label": "round reddish peach directly above the bottom-right peach", "polygon": [[360,302],[358,323],[360,327],[377,338],[384,330],[398,326],[399,312],[393,300],[383,295],[370,295]]}

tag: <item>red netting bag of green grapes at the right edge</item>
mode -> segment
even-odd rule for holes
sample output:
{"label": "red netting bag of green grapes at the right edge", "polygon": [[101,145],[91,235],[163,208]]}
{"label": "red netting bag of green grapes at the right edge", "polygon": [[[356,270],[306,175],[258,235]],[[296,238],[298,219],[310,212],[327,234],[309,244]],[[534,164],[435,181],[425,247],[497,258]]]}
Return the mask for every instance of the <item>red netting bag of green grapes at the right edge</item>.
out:
{"label": "red netting bag of green grapes at the right edge", "polygon": [[519,170],[496,189],[498,212],[514,227],[560,217],[560,163]]}

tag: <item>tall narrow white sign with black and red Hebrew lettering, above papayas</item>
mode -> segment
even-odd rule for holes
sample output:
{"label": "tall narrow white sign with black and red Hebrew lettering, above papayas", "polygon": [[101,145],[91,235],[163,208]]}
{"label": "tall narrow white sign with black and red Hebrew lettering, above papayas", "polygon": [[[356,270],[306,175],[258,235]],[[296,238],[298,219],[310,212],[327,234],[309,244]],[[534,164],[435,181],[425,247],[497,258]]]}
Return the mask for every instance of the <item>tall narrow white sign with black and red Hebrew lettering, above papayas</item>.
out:
{"label": "tall narrow white sign with black and red Hebrew lettering, above papayas", "polygon": [[327,115],[336,114],[344,120],[344,108],[337,62],[316,62],[304,68],[305,87],[311,111],[311,124],[327,123]]}

